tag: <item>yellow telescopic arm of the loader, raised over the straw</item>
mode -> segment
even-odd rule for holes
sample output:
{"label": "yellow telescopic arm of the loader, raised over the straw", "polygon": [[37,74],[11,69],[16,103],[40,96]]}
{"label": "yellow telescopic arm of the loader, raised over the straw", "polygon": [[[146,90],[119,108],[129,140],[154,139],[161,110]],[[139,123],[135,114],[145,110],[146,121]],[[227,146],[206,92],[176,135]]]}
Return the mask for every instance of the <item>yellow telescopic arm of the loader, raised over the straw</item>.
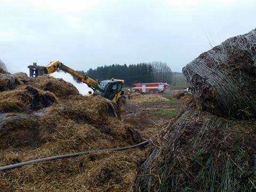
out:
{"label": "yellow telescopic arm of the loader, raised over the straw", "polygon": [[91,87],[92,89],[95,89],[95,87],[97,87],[97,85],[99,84],[98,81],[95,81],[94,79],[83,75],[77,71],[75,71],[74,69],[69,68],[68,66],[65,66],[62,62],[60,61],[52,61],[49,63],[49,65],[47,65],[45,67],[47,74],[52,74],[55,71],[57,71],[58,69],[61,69],[75,77],[78,78],[78,81],[81,81],[83,83],[86,83],[89,87]]}

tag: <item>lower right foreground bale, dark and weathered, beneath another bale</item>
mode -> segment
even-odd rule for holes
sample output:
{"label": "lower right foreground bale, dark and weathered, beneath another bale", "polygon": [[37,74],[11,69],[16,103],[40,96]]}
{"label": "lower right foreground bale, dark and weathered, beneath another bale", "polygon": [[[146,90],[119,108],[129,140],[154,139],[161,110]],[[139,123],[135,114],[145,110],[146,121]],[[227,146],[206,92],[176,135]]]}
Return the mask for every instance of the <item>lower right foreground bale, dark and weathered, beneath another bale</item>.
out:
{"label": "lower right foreground bale, dark and weathered, beneath another bale", "polygon": [[134,191],[255,191],[255,137],[255,122],[187,110],[153,140]]}

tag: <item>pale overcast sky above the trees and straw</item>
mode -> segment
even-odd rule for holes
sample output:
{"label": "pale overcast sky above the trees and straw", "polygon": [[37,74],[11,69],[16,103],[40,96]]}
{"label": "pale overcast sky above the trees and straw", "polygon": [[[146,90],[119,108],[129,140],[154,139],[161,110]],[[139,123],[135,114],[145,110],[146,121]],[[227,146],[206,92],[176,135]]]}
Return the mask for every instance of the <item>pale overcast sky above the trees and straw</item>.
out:
{"label": "pale overcast sky above the trees and straw", "polygon": [[11,73],[60,60],[77,70],[167,62],[256,28],[256,0],[0,0],[0,59]]}

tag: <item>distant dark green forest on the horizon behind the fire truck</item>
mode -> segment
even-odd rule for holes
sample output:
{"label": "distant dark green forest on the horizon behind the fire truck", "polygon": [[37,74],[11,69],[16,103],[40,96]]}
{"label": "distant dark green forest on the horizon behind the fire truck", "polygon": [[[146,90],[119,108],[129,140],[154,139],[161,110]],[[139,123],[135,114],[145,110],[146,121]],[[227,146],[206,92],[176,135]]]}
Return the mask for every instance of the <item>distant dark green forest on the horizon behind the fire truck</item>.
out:
{"label": "distant dark green forest on the horizon behind the fire truck", "polygon": [[82,74],[98,79],[118,78],[124,79],[127,86],[134,83],[164,82],[172,84],[172,70],[164,62],[138,63],[135,65],[109,65],[89,69],[88,71],[79,71]]}

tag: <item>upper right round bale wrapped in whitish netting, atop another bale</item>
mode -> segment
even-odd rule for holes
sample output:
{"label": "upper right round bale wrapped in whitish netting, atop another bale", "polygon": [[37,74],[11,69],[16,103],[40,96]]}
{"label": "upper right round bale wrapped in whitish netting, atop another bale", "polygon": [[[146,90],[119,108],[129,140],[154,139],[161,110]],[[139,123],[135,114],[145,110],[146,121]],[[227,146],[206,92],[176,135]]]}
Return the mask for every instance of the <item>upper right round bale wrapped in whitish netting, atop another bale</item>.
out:
{"label": "upper right round bale wrapped in whitish netting, atop another bale", "polygon": [[202,53],[182,71],[204,110],[256,117],[256,29]]}

